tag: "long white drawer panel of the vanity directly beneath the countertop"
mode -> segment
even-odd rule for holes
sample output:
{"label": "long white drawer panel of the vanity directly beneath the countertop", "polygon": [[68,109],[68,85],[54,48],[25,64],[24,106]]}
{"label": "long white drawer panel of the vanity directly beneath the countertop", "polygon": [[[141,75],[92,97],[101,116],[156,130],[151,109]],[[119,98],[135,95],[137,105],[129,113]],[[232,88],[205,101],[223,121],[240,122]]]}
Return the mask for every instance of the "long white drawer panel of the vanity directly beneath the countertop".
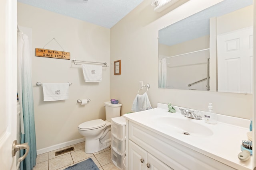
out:
{"label": "long white drawer panel of the vanity directly beneath the countertop", "polygon": [[128,128],[131,141],[175,170],[234,170],[131,121]]}

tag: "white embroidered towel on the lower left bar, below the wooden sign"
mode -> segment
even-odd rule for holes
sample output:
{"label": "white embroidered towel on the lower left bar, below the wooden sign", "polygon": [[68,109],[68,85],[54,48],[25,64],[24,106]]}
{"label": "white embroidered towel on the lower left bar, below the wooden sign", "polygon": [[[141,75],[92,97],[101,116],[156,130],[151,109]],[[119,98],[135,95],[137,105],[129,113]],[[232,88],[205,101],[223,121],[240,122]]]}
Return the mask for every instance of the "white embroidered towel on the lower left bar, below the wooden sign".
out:
{"label": "white embroidered towel on the lower left bar, below the wooden sign", "polygon": [[69,83],[43,83],[44,101],[68,99]]}

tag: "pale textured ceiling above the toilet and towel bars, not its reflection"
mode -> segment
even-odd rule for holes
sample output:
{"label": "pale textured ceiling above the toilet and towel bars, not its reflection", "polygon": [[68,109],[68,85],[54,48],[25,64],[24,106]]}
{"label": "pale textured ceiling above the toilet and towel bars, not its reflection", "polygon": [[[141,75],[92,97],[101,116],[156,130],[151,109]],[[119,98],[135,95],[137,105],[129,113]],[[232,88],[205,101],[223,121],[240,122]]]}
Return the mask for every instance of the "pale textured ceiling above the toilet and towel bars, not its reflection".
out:
{"label": "pale textured ceiling above the toilet and towel bars, not its reflection", "polygon": [[[143,0],[18,0],[24,4],[111,28]],[[153,10],[153,9],[152,9]]]}

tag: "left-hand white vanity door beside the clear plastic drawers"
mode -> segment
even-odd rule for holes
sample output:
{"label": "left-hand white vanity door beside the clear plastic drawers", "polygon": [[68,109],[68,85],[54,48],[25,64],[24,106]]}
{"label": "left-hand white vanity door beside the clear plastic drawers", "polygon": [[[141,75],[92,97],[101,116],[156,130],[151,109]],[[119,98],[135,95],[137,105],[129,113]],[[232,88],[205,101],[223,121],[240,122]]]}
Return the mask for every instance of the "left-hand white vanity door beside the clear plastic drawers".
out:
{"label": "left-hand white vanity door beside the clear plastic drawers", "polygon": [[146,170],[147,152],[129,140],[128,170]]}

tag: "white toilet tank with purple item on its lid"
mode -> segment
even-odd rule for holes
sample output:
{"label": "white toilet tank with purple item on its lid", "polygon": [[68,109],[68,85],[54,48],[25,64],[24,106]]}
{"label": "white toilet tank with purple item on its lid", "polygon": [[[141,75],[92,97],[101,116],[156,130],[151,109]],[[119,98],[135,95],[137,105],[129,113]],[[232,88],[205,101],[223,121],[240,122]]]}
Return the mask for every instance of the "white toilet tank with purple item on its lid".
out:
{"label": "white toilet tank with purple item on its lid", "polygon": [[106,119],[111,122],[111,118],[119,117],[122,104],[112,104],[111,102],[104,102],[106,110]]}

